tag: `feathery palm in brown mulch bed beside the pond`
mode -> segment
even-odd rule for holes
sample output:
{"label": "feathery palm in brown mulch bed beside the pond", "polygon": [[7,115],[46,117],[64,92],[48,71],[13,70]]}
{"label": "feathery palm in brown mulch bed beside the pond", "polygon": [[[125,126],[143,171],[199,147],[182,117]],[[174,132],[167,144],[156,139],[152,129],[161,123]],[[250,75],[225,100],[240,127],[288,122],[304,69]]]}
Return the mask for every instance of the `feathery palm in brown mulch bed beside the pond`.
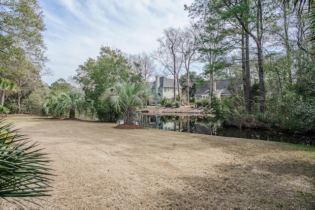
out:
{"label": "feathery palm in brown mulch bed beside the pond", "polygon": [[117,112],[122,112],[124,123],[133,124],[134,112],[136,107],[143,107],[147,102],[154,103],[154,95],[144,84],[121,84],[116,83],[107,89],[102,95],[101,100],[109,100]]}

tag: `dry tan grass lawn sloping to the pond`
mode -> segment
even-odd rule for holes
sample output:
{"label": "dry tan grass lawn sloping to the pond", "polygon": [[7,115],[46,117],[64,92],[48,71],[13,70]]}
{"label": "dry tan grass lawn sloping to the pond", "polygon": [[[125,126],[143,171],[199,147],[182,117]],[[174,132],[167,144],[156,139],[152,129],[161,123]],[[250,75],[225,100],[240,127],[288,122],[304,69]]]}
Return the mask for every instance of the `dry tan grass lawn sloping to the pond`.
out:
{"label": "dry tan grass lawn sloping to the pond", "polygon": [[78,120],[7,122],[50,153],[57,176],[48,202],[38,201],[45,210],[315,209],[314,147]]}

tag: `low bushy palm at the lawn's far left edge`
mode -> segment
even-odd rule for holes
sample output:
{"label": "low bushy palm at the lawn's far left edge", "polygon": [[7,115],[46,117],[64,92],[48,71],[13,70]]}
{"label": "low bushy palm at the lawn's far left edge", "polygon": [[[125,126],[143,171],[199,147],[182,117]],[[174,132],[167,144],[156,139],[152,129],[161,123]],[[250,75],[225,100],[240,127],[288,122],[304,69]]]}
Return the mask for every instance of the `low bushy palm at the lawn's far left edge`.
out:
{"label": "low bushy palm at the lawn's far left edge", "polygon": [[81,114],[92,110],[93,101],[85,100],[79,92],[62,92],[58,96],[54,93],[42,105],[42,113],[53,116],[69,116],[75,118],[76,112]]}

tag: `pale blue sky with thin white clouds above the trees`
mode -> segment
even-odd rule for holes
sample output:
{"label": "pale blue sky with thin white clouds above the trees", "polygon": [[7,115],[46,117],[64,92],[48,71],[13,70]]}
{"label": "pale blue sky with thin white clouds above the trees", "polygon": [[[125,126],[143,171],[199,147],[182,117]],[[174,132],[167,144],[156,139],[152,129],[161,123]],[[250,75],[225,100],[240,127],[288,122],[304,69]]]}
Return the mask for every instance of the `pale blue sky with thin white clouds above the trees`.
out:
{"label": "pale blue sky with thin white clouds above the trees", "polygon": [[192,0],[38,0],[44,12],[44,42],[53,76],[48,85],[75,75],[75,69],[96,58],[100,47],[127,54],[158,47],[163,29],[189,24],[184,4]]}

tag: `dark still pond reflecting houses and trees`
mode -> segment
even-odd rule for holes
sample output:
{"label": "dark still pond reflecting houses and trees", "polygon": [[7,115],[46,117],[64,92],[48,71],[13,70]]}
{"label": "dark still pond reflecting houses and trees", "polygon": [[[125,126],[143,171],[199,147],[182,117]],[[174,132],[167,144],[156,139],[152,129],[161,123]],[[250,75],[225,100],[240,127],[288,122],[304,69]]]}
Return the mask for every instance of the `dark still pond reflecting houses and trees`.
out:
{"label": "dark still pond reflecting houses and trees", "polygon": [[284,132],[271,133],[259,129],[240,129],[235,126],[223,126],[220,123],[211,121],[209,117],[180,117],[139,114],[137,115],[135,123],[143,127],[173,130],[177,132],[258,139],[301,145],[315,145],[314,135],[293,135],[291,133]]}

